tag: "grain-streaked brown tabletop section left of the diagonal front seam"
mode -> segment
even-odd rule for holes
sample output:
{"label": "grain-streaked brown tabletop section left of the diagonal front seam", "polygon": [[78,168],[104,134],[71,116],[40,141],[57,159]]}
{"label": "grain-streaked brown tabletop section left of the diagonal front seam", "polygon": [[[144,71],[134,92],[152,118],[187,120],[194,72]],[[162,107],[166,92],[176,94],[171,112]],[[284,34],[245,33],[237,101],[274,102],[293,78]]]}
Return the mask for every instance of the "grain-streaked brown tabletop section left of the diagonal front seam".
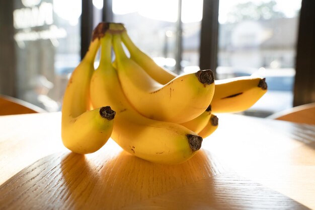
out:
{"label": "grain-streaked brown tabletop section left of the diagonal front seam", "polygon": [[53,154],[0,187],[0,208],[118,209],[219,174],[223,169],[205,153],[175,166],[150,163],[123,151],[92,157]]}

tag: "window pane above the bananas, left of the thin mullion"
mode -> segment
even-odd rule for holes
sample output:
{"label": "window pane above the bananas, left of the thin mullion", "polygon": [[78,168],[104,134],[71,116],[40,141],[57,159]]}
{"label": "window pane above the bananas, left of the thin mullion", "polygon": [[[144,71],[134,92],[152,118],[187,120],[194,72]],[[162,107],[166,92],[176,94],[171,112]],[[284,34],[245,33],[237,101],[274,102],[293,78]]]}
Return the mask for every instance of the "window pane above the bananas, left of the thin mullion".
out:
{"label": "window pane above the bananas, left of the thin mullion", "polygon": [[114,22],[123,23],[141,50],[171,70],[176,63],[177,4],[174,0],[113,0]]}

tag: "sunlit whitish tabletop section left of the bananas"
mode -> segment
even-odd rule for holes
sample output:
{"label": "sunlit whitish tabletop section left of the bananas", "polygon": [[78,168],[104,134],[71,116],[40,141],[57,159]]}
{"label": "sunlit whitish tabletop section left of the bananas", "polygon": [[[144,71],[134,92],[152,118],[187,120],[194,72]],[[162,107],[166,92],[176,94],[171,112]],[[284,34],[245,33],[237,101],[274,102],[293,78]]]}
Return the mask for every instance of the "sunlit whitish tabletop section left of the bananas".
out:
{"label": "sunlit whitish tabletop section left of the bananas", "polygon": [[61,113],[0,116],[0,184],[47,155],[66,151]]}

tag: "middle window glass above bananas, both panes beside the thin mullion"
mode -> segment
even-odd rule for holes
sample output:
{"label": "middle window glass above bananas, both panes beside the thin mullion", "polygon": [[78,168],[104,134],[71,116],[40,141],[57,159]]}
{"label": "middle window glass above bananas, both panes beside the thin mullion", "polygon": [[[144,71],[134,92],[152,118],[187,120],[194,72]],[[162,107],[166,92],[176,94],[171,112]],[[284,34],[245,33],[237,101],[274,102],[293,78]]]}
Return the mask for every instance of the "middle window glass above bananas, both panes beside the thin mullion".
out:
{"label": "middle window glass above bananas, both panes beside the thin mullion", "polygon": [[[175,71],[178,0],[113,0],[114,22],[157,64]],[[182,70],[199,68],[202,0],[182,1]],[[182,72],[180,72],[182,73]]]}

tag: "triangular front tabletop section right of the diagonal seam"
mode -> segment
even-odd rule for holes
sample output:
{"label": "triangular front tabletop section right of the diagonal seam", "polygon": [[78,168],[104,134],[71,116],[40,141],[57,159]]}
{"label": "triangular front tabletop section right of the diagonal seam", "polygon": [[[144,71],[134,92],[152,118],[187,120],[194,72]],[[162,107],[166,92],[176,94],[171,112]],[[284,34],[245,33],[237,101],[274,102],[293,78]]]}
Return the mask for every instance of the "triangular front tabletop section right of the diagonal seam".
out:
{"label": "triangular front tabletop section right of the diagonal seam", "polygon": [[122,209],[309,208],[272,188],[241,177],[237,173],[227,172]]}

